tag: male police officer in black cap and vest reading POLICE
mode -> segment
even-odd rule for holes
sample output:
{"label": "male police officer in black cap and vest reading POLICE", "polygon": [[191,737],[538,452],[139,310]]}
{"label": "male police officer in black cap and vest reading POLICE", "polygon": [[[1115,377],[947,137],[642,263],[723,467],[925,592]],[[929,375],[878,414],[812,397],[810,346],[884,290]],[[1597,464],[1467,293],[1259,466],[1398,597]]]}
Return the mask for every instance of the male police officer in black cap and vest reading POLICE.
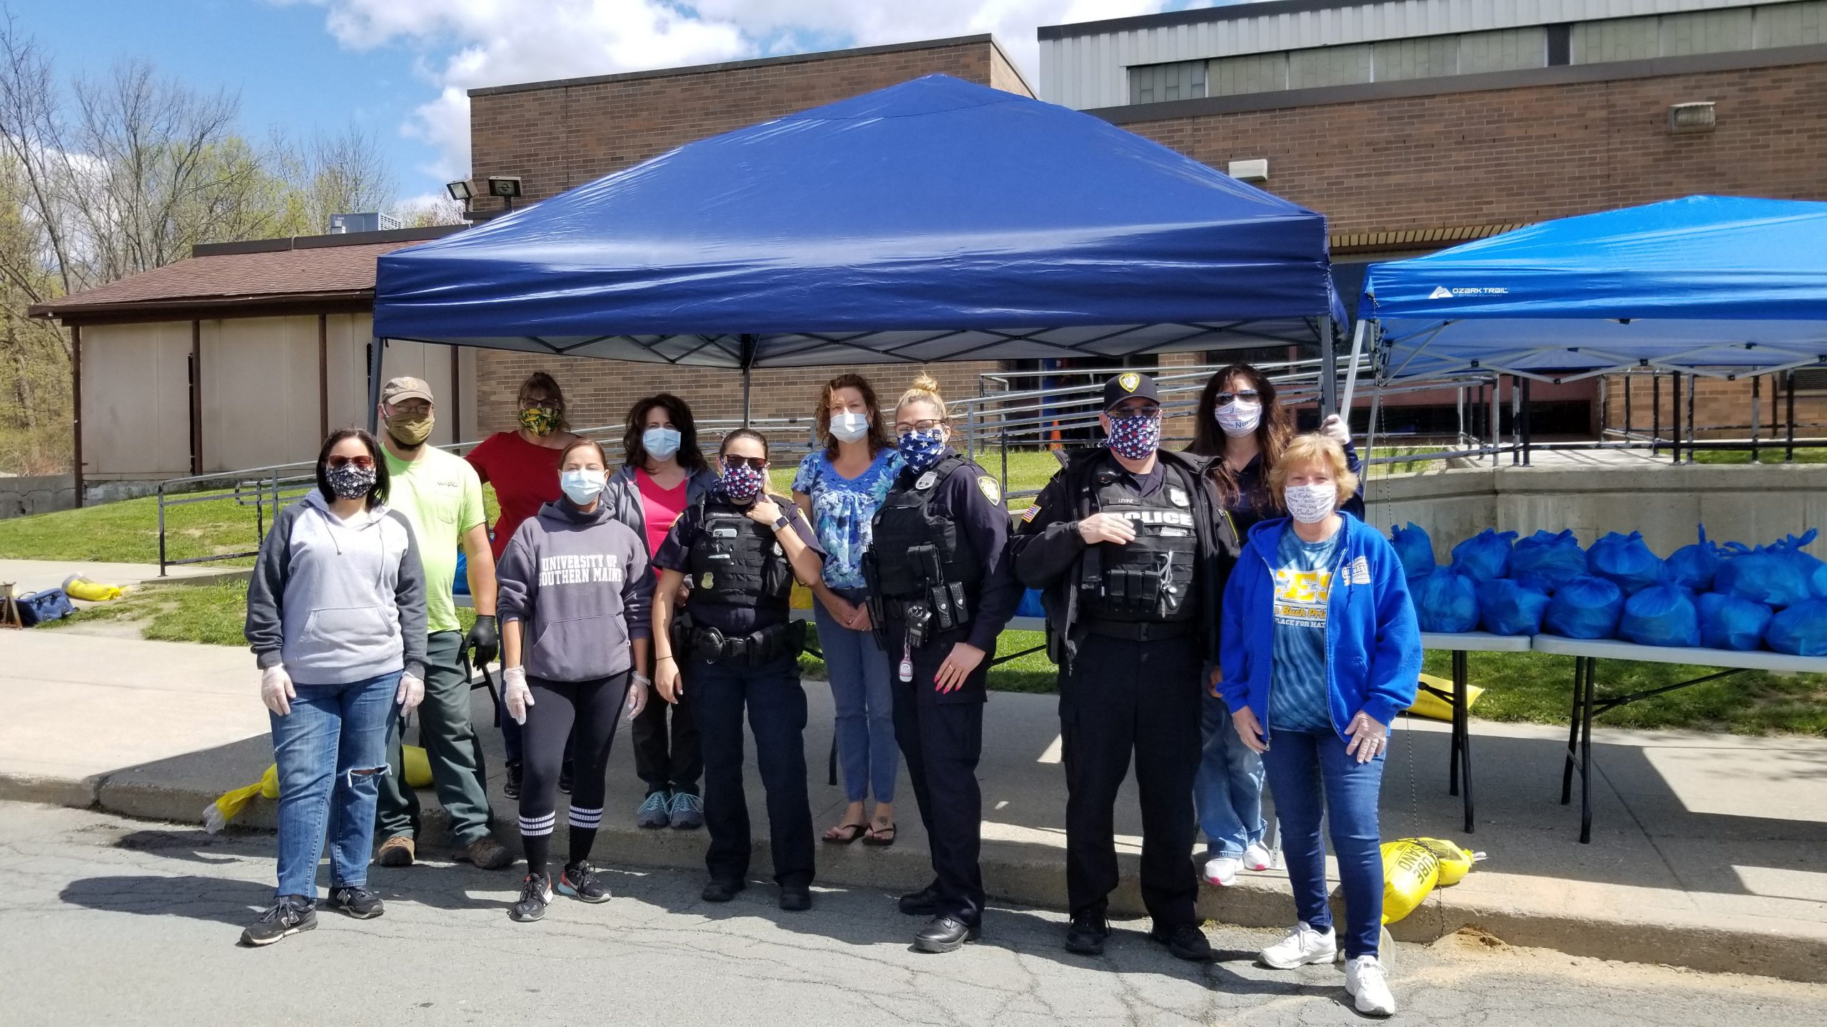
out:
{"label": "male police officer in black cap and vest reading POLICE", "polygon": [[1160,451],[1160,395],[1147,375],[1104,384],[1109,448],[1072,453],[1012,539],[1023,585],[1045,588],[1060,663],[1065,755],[1069,952],[1096,956],[1116,888],[1113,808],[1135,751],[1142,793],[1142,901],[1149,937],[1209,961],[1193,903],[1193,775],[1200,669],[1217,658],[1219,598],[1237,534],[1206,459]]}

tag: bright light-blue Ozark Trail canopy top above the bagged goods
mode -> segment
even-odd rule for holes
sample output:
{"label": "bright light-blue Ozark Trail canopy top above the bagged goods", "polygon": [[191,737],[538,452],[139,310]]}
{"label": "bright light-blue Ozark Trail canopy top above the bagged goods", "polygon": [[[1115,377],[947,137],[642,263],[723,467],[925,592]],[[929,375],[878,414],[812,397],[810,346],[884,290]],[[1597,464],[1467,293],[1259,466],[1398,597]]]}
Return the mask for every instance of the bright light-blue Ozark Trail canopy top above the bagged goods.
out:
{"label": "bright light-blue Ozark Trail canopy top above the bagged goods", "polygon": [[1690,196],[1370,265],[1379,378],[1736,378],[1827,358],[1827,203]]}

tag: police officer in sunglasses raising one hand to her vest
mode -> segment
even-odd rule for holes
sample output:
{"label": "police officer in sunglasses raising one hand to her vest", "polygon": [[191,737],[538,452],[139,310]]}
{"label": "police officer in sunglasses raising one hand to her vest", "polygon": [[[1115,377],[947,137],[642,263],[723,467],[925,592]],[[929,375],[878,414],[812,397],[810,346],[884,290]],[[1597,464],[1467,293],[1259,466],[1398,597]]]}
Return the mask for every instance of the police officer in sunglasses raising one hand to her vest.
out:
{"label": "police officer in sunglasses raising one hand to her vest", "polygon": [[[793,577],[818,577],[824,550],[798,506],[767,495],[767,440],[749,428],[723,437],[718,486],[687,506],[654,554],[654,687],[678,702],[692,689],[703,738],[709,903],[727,903],[749,873],[749,802],[742,795],[742,709],[767,791],[767,828],[782,910],[811,908],[811,806],[806,799],[806,693],[798,654],[806,625],[787,619]],[[789,512],[789,514],[784,514]],[[685,627],[671,636],[685,576]],[[680,674],[680,662],[691,671]]]}

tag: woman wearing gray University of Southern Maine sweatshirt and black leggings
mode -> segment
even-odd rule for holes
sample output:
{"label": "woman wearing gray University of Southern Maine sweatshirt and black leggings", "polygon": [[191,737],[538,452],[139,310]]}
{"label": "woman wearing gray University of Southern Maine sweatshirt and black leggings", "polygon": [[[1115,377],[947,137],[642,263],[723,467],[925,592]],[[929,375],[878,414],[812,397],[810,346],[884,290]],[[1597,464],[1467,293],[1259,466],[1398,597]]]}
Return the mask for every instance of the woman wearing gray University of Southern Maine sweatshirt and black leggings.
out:
{"label": "woman wearing gray University of Southern Maine sweatshirt and black leggings", "polygon": [[590,868],[603,822],[608,747],[623,711],[647,705],[649,609],[654,576],[647,543],[603,503],[608,462],[588,439],[559,457],[565,497],[546,503],[513,532],[495,577],[502,643],[502,705],[521,724],[521,844],[526,883],[510,916],[535,921],[552,901],[552,830],[557,824],[559,764],[576,727],[577,768],[570,797],[570,861],[557,892],[585,903],[608,901]]}

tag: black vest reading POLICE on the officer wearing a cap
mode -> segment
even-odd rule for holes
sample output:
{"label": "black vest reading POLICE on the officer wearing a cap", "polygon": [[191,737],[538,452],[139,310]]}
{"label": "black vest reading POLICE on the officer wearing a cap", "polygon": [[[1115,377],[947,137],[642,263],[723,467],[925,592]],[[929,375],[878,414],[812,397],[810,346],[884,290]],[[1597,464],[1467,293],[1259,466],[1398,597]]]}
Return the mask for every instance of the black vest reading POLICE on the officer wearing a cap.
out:
{"label": "black vest reading POLICE on the officer wearing a cap", "polygon": [[1136,495],[1125,475],[1096,471],[1093,490],[1100,514],[1129,519],[1136,537],[1129,545],[1100,543],[1085,548],[1080,572],[1080,614],[1100,621],[1169,623],[1191,619],[1197,605],[1193,576],[1199,559],[1199,528],[1193,497],[1173,468],[1155,495]]}

